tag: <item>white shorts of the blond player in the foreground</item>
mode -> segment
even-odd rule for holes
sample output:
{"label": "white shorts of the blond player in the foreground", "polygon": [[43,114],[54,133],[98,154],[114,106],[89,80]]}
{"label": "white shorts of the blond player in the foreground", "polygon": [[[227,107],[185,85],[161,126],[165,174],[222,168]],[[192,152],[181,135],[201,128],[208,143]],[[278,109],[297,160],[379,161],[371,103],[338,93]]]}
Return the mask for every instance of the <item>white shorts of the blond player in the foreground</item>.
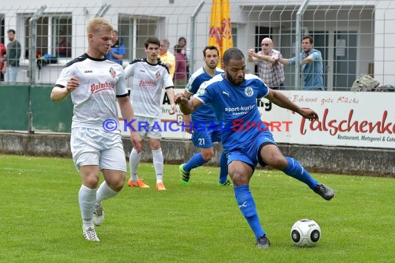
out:
{"label": "white shorts of the blond player in the foreground", "polygon": [[100,170],[127,172],[121,134],[76,127],[71,129],[71,154],[74,165],[99,165]]}

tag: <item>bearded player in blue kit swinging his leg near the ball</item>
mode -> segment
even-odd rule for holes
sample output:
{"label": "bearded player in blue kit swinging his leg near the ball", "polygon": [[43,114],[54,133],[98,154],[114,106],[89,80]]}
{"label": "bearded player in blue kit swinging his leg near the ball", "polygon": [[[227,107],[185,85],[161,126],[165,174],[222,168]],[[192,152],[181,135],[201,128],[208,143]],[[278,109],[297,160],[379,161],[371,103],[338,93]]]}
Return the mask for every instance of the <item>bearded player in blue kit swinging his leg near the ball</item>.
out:
{"label": "bearded player in blue kit swinging his leg near the ball", "polygon": [[326,200],[332,199],[335,194],[331,188],[313,179],[294,158],[281,154],[259,116],[256,99],[265,97],[308,120],[317,120],[318,115],[312,109],[301,109],[279,91],[267,88],[256,75],[246,74],[245,57],[238,48],[229,48],[222,60],[225,73],[204,82],[191,100],[182,93],[177,94],[175,103],[184,114],[191,114],[200,105],[211,103],[220,123],[227,126],[222,131],[222,145],[228,154],[228,170],[234,183],[236,202],[254,232],[257,248],[268,248],[270,242],[249,191],[249,180],[258,163],[270,165],[306,183]]}

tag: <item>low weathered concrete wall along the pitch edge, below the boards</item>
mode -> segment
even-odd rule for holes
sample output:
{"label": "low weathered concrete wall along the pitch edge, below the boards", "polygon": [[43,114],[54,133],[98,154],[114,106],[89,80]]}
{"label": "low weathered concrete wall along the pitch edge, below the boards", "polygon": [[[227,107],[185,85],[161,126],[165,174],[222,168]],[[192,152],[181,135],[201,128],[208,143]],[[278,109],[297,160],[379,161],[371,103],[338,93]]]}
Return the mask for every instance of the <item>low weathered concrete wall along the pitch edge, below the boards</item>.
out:
{"label": "low weathered concrete wall along the pitch edge, below the boards", "polygon": [[[0,133],[0,154],[71,157],[69,134]],[[125,156],[132,144],[123,138]],[[395,178],[395,149],[367,149],[308,145],[279,145],[285,156],[296,158],[310,172],[388,176]],[[161,140],[165,163],[184,163],[197,150],[189,140]],[[218,145],[211,165],[219,160]],[[151,161],[145,143],[141,161]]]}

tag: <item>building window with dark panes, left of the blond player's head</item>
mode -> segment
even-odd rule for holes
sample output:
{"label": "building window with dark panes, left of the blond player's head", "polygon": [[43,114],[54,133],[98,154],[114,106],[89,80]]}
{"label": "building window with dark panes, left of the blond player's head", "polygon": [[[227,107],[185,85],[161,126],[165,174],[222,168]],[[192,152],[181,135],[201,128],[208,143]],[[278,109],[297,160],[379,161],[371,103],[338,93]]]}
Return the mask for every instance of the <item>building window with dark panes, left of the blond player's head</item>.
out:
{"label": "building window with dark panes, left of the blond player's head", "polygon": [[[28,59],[30,48],[29,20],[24,18],[25,30],[25,59]],[[62,15],[47,15],[36,21],[37,26],[37,48],[35,57],[50,54],[55,57],[71,57],[72,18],[71,13]]]}

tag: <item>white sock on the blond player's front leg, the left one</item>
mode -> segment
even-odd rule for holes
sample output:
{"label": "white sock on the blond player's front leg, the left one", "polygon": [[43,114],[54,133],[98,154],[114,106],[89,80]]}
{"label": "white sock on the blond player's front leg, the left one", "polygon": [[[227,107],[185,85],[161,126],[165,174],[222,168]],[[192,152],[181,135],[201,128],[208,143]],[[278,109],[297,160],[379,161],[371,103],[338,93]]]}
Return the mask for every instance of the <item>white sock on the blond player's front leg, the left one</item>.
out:
{"label": "white sock on the blond player's front leg, the left one", "polygon": [[87,188],[81,185],[80,192],[78,192],[78,201],[80,203],[80,210],[82,216],[82,228],[94,228],[92,217],[94,217],[96,190]]}

